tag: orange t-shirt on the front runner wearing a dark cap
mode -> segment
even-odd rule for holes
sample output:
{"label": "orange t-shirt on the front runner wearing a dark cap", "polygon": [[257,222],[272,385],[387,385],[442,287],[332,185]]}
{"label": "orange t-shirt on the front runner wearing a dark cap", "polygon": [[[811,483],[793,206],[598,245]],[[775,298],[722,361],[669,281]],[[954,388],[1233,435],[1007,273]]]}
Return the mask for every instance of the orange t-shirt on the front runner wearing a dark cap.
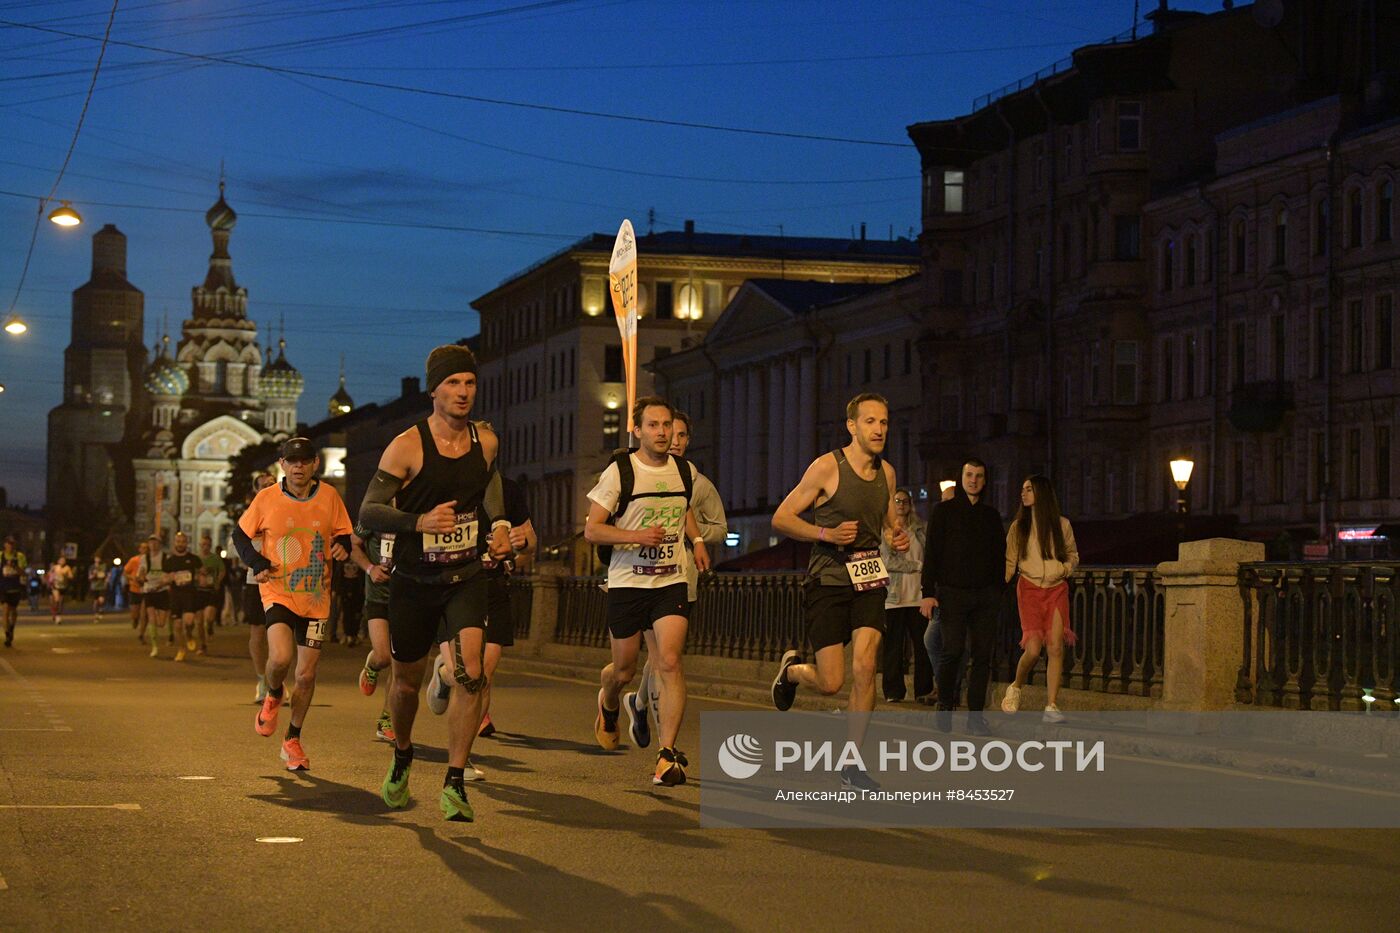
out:
{"label": "orange t-shirt on the front runner wearing a dark cap", "polygon": [[307,499],[283,490],[281,483],[258,493],[238,520],[262,553],[272,560],[272,580],[258,584],[263,608],[283,605],[304,619],[330,615],[330,544],[351,534],[350,514],[340,495],[318,482]]}

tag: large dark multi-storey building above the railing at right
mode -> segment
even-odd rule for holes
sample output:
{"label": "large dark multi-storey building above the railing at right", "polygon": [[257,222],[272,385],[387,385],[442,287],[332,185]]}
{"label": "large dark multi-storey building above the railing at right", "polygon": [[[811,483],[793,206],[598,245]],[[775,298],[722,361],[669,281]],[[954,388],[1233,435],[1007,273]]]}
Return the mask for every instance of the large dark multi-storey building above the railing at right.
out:
{"label": "large dark multi-storey building above the railing at right", "polygon": [[910,127],[932,469],[976,451],[1002,511],[1047,472],[1112,518],[1170,507],[1189,455],[1193,509],[1259,534],[1393,514],[1400,22],[1284,13],[1162,8]]}

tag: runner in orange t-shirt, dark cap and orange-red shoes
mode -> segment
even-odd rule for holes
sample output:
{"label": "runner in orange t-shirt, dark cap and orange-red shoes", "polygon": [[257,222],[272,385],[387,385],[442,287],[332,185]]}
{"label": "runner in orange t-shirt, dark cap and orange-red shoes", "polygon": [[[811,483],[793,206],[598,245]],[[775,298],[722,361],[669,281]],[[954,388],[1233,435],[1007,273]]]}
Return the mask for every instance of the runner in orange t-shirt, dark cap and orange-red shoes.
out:
{"label": "runner in orange t-shirt, dark cap and orange-red shoes", "polygon": [[[277,731],[283,684],[295,658],[291,723],[281,742],[287,770],[309,770],[301,727],[316,691],[316,664],[330,614],[330,562],[350,556],[350,516],[335,488],[316,479],[321,457],[305,437],[281,443],[284,479],[258,493],[234,527],[234,545],[255,572],[267,621],[267,696],[253,717],[263,737]],[[253,541],[262,541],[262,549]]]}

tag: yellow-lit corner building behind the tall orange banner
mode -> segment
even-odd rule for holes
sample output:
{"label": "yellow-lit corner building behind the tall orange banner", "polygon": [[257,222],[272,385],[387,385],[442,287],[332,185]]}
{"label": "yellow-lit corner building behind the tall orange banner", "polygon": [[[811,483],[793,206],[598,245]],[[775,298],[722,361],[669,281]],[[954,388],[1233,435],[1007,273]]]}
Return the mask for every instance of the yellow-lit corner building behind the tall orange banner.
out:
{"label": "yellow-lit corner building behind the tall orange banner", "polygon": [[[472,303],[482,315],[476,410],[501,465],[526,482],[546,548],[570,546],[585,495],[626,444],[622,342],[608,294],[613,238],[594,234]],[[637,392],[648,364],[697,345],[749,279],[886,283],[917,270],[909,241],[741,237],[686,230],[637,238]],[[693,410],[717,405],[700,394]]]}

